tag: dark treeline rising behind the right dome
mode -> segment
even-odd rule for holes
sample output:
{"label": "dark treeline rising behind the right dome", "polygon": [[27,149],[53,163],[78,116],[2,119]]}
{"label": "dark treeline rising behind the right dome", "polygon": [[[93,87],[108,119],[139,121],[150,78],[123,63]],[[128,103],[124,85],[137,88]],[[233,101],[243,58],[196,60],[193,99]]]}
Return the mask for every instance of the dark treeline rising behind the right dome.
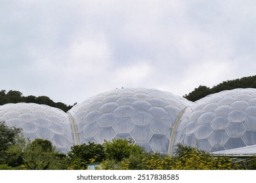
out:
{"label": "dark treeline rising behind the right dome", "polygon": [[232,90],[236,88],[256,88],[256,76],[248,76],[235,80],[227,80],[216,86],[213,86],[213,88],[200,85],[198,88],[195,88],[193,92],[190,92],[183,97],[185,97],[189,101],[197,101],[198,99],[202,99],[209,94],[221,92],[223,90]]}

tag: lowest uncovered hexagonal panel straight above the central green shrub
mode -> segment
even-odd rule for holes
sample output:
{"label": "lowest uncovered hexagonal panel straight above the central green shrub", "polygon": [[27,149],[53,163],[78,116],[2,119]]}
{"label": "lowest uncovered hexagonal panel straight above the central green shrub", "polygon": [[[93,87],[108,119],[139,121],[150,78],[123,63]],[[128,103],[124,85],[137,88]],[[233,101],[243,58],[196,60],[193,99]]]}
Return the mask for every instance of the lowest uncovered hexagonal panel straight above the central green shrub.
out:
{"label": "lowest uncovered hexagonal panel straight above the central green shrub", "polygon": [[117,133],[129,133],[134,125],[130,118],[118,118],[113,127]]}

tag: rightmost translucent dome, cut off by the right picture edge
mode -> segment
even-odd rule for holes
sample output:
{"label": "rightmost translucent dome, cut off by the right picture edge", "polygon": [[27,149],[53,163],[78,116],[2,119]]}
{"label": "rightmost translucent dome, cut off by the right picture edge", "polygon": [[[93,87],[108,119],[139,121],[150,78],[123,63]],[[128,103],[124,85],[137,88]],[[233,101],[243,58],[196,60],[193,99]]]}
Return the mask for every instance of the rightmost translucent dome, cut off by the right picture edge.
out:
{"label": "rightmost translucent dome, cut off by the right picture edge", "polygon": [[175,143],[217,152],[256,144],[256,90],[208,95],[184,112]]}

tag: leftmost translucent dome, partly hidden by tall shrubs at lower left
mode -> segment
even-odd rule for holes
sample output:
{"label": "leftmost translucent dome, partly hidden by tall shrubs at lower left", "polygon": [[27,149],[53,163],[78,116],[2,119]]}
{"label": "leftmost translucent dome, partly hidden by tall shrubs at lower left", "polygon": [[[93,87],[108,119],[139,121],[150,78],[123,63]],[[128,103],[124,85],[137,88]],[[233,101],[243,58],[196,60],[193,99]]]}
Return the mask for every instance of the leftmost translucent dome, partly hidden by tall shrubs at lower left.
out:
{"label": "leftmost translucent dome, partly hidden by tall shrubs at lower left", "polygon": [[74,135],[68,114],[48,105],[9,103],[0,106],[0,122],[22,128],[24,137],[48,139],[60,152],[74,146]]}

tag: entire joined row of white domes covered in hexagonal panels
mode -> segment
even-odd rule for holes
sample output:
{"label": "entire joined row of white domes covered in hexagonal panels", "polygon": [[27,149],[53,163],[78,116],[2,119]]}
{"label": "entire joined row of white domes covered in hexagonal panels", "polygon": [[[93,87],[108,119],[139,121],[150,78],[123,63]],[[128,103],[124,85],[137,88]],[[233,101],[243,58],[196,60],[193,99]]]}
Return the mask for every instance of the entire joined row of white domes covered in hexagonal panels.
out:
{"label": "entire joined row of white domes covered in hexagonal panels", "polygon": [[90,97],[67,113],[33,103],[2,105],[0,121],[22,128],[32,141],[49,139],[64,153],[74,144],[114,138],[162,154],[173,153],[177,143],[217,152],[256,144],[256,89],[223,91],[192,103],[160,90],[123,88]]}

